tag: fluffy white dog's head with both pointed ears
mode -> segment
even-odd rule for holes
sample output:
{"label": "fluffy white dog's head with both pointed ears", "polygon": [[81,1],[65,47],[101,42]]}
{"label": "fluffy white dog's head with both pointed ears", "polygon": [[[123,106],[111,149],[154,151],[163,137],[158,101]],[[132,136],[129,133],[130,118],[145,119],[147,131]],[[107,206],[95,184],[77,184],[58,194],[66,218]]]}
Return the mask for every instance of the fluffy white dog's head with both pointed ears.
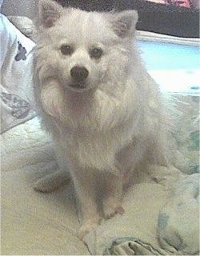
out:
{"label": "fluffy white dog's head with both pointed ears", "polygon": [[117,81],[129,68],[137,19],[135,11],[100,14],[41,0],[38,53],[50,77],[67,89],[90,90],[114,76]]}

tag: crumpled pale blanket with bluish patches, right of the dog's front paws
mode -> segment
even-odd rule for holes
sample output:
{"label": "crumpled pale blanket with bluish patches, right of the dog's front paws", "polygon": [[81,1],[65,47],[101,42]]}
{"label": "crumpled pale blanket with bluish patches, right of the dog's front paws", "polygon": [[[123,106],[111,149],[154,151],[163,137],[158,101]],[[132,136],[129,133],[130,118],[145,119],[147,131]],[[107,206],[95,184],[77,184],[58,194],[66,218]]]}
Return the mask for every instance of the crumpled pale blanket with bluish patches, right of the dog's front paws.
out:
{"label": "crumpled pale blanket with bluish patches, right of the dog's front paws", "polygon": [[125,195],[125,214],[102,222],[86,236],[91,254],[199,253],[199,174],[182,174],[173,166],[150,166],[146,172],[149,181],[138,179]]}

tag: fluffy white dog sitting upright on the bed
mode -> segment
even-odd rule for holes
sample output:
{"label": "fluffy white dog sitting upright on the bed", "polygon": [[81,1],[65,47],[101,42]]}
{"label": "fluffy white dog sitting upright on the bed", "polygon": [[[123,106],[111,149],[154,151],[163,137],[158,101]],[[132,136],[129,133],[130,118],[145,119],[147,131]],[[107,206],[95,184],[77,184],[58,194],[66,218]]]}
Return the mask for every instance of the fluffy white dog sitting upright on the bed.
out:
{"label": "fluffy white dog sitting upright on the bed", "polygon": [[[35,98],[60,171],[38,181],[50,192],[68,179],[82,211],[83,237],[122,214],[123,186],[147,163],[168,164],[162,97],[134,46],[134,10],[97,13],[39,2]],[[67,166],[67,167],[66,167]]]}

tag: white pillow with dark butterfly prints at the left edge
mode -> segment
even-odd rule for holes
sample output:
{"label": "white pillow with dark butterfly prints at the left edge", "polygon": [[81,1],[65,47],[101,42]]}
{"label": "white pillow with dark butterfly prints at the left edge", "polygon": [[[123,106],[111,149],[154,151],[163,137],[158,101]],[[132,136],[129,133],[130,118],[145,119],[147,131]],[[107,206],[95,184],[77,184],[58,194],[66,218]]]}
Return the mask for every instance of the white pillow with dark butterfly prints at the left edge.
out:
{"label": "white pillow with dark butterfly prints at the left edge", "polygon": [[1,133],[33,118],[33,48],[26,38],[3,14],[0,14],[0,104]]}

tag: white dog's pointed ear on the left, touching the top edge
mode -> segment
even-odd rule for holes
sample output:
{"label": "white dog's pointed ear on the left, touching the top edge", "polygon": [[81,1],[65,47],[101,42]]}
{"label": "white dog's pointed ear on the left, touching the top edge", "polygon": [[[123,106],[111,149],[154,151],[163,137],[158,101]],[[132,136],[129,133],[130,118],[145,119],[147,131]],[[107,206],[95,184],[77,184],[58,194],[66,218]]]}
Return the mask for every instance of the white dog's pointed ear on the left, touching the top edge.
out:
{"label": "white dog's pointed ear on the left, touching the top edge", "polygon": [[38,3],[39,25],[44,27],[54,26],[60,18],[63,7],[51,0],[40,0]]}

